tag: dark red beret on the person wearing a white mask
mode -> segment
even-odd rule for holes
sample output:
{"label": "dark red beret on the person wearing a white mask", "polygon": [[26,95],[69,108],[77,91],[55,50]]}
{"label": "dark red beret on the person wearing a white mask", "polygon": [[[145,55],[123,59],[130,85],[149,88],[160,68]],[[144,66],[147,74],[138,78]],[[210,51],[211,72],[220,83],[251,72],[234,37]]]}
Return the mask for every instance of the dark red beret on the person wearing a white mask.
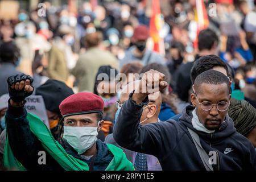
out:
{"label": "dark red beret on the person wearing a white mask", "polygon": [[70,115],[99,113],[104,110],[104,101],[94,93],[81,92],[65,98],[60,104],[60,112],[64,117]]}

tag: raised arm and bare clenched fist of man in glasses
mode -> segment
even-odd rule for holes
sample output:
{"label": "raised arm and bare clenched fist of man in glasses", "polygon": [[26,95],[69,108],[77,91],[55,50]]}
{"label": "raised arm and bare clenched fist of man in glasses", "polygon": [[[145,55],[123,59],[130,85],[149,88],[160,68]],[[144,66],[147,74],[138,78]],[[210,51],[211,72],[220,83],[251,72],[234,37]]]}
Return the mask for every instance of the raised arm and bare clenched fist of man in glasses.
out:
{"label": "raised arm and bare clenched fist of man in glasses", "polygon": [[159,125],[152,123],[142,126],[139,122],[143,106],[148,103],[148,94],[156,93],[168,85],[163,80],[164,75],[158,71],[150,70],[144,73],[139,86],[130,94],[129,100],[123,104],[113,130],[114,140],[120,146],[158,156],[157,148],[163,143]]}

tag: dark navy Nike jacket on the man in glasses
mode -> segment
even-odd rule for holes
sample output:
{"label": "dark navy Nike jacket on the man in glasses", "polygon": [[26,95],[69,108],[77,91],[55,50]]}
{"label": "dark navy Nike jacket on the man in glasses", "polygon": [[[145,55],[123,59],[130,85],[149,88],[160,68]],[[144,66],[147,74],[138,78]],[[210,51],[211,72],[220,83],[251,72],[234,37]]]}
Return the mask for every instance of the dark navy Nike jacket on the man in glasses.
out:
{"label": "dark navy Nike jacket on the man in glasses", "polygon": [[[191,123],[191,112],[195,107],[187,106],[179,122],[139,125],[144,104],[147,102],[137,105],[130,95],[122,106],[113,131],[114,139],[120,146],[156,156],[163,170],[205,170],[188,127],[199,135],[207,154],[217,152],[214,170],[256,169],[254,147],[247,138],[236,132],[231,118],[226,117],[219,131],[203,133],[196,131]],[[224,152],[227,150],[231,152]]]}

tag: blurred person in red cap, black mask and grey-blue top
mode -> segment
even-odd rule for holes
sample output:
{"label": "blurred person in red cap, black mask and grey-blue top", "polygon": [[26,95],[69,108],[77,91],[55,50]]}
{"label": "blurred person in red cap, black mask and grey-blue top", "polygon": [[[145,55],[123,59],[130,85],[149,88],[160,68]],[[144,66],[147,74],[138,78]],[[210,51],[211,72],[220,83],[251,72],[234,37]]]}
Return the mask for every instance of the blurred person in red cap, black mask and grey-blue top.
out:
{"label": "blurred person in red cap, black mask and grey-blue top", "polygon": [[150,33],[147,26],[139,25],[135,27],[133,38],[131,39],[134,46],[126,51],[123,59],[119,60],[119,70],[121,70],[123,65],[130,63],[131,61],[140,61],[143,65],[150,63],[165,63],[163,56],[146,48],[149,36]]}

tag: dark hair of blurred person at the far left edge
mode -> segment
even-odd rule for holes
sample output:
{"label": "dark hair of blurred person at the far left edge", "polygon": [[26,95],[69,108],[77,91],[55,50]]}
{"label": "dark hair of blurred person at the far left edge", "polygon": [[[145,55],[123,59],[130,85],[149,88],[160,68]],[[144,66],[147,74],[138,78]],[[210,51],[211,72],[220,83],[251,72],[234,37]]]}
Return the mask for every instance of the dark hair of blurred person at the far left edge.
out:
{"label": "dark hair of blurred person at the far left edge", "polygon": [[19,48],[14,42],[4,42],[0,46],[0,62],[14,63],[20,56]]}

